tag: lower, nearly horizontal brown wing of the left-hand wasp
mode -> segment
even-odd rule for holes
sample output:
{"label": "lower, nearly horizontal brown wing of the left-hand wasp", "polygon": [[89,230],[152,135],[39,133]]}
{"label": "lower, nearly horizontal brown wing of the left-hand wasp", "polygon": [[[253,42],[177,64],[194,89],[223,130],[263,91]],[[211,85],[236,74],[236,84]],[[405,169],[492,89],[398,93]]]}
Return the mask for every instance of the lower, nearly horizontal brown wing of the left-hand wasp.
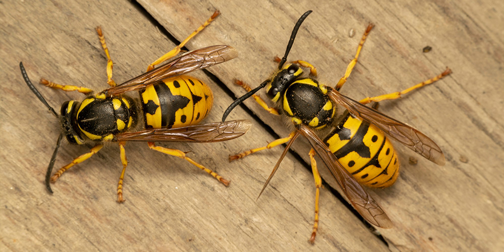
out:
{"label": "lower, nearly horizontal brown wing of the left-hand wasp", "polygon": [[174,129],[150,129],[117,135],[116,141],[210,143],[235,139],[245,134],[249,120],[212,122]]}

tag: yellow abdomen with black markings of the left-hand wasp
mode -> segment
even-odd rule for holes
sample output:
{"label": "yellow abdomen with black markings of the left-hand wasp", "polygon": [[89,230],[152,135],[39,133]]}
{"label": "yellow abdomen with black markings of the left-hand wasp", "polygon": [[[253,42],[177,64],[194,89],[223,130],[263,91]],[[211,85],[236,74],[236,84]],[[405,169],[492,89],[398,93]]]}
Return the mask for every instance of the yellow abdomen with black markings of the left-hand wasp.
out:
{"label": "yellow abdomen with black markings of the left-hand wasp", "polygon": [[178,76],[140,91],[146,129],[196,124],[210,111],[213,95],[202,81]]}

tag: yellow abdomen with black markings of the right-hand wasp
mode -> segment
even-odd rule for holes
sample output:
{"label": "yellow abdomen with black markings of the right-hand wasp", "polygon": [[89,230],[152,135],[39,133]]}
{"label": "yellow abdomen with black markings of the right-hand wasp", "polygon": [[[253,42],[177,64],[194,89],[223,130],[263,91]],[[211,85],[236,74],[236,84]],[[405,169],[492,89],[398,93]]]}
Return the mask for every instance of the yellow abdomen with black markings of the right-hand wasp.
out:
{"label": "yellow abdomen with black markings of the right-hand wasp", "polygon": [[389,139],[380,129],[360,118],[347,113],[324,142],[361,184],[387,187],[399,175],[399,160]]}

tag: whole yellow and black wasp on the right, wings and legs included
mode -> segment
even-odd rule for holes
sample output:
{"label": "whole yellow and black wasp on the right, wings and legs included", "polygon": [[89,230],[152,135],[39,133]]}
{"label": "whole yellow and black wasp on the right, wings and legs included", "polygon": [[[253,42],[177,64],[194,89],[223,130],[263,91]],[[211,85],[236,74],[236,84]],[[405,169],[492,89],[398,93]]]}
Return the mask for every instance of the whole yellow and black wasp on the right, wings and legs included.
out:
{"label": "whole yellow and black wasp on the right, wings and legs included", "polygon": [[[235,106],[253,96],[270,113],[281,113],[293,123],[295,130],[289,136],[277,139],[267,146],[229,157],[229,160],[232,161],[287,143],[259,195],[265,190],[297,137],[302,135],[308,140],[312,147],[309,151],[309,157],[316,184],[315,217],[309,239],[313,243],[319,225],[319,195],[322,186],[322,179],[314,159],[316,155],[323,161],[332,177],[337,181],[341,191],[357,212],[366,221],[381,228],[391,228],[393,223],[380,205],[364,190],[362,185],[386,187],[395,182],[399,174],[399,160],[389,139],[394,139],[406,145],[438,165],[445,164],[443,152],[430,138],[405,123],[377,111],[375,109],[377,106],[368,107],[364,104],[371,102],[377,104],[382,100],[397,99],[401,95],[449,75],[451,70],[447,68],[442,74],[401,92],[367,97],[360,101],[353,100],[341,94],[339,90],[355,67],[360,50],[373,25],[368,25],[359,42],[356,55],[348,65],[345,75],[333,88],[317,81],[317,69],[308,62],[296,60],[285,64],[297,31],[310,13],[311,11],[304,13],[295,24],[283,58],[277,57],[275,59],[279,62],[278,70],[271,75],[270,79],[267,79],[255,89],[251,89],[241,81],[236,81],[236,84],[242,86],[248,92],[236,99],[226,109],[222,121],[225,121]],[[303,69],[309,69],[309,74]],[[277,105],[276,108],[269,107],[261,97],[255,95],[257,91],[265,87],[266,95]],[[340,117],[336,113],[337,105],[346,109]],[[330,133],[322,140],[318,134],[324,128]]]}

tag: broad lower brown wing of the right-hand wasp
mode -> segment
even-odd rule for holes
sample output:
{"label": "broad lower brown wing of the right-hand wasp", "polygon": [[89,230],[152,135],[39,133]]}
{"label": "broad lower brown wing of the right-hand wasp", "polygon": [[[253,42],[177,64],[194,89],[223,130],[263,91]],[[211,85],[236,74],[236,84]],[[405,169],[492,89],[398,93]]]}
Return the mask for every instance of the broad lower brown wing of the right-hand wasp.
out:
{"label": "broad lower brown wing of the right-hand wasp", "polygon": [[313,150],[322,159],[355,210],[369,223],[381,228],[391,228],[392,221],[380,205],[347,173],[324,142],[305,125],[298,126],[298,131],[308,140]]}

